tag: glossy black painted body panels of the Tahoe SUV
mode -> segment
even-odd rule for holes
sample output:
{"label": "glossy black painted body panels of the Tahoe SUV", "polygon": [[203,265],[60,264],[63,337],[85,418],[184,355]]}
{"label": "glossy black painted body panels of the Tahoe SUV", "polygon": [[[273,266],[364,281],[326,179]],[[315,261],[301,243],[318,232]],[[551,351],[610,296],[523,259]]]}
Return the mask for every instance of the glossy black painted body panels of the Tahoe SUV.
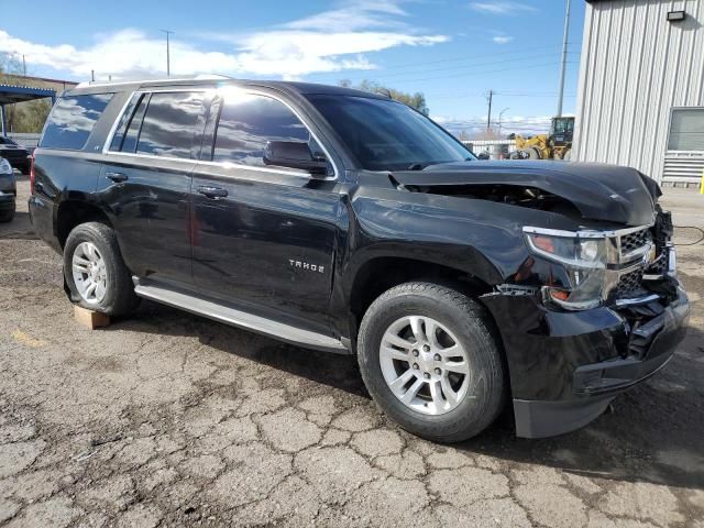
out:
{"label": "glossy black painted body panels of the Tahoe SUV", "polygon": [[[169,86],[174,85],[189,86]],[[197,88],[204,86],[216,87],[201,82]],[[393,175],[365,172],[338,141],[333,123],[322,120],[306,99],[306,94],[321,89],[351,90],[288,82],[240,86],[286,100],[329,153],[336,177],[210,163],[206,152],[212,131],[207,123],[195,138],[195,145],[204,146],[194,148],[193,160],[103,153],[102,144],[131,92],[150,89],[128,85],[110,102],[82,152],[36,151],[30,211],[40,237],[61,251],[56,226],[62,208],[95,205],[116,228],[135,275],[177,283],[213,298],[242,299],[273,319],[293,319],[301,328],[339,338],[351,351],[356,321],[350,306],[364,287],[360,277],[388,258],[444,266],[483,286],[479,299],[502,338],[517,424],[521,413],[532,416],[524,410],[525,402],[546,403],[549,409],[559,404],[576,416],[564,420],[564,420],[562,427],[531,419],[519,428],[520,435],[564,432],[603,410],[620,387],[598,399],[578,395],[575,371],[613,364],[627,354],[624,316],[607,307],[556,310],[537,293],[510,295],[501,286],[537,289],[548,283],[568,284],[561,266],[528,251],[522,227],[574,231],[647,224],[656,211],[657,185],[623,167],[557,163],[469,162]],[[124,174],[127,180],[116,183],[107,178],[109,172]],[[486,184],[548,190],[572,201],[583,218],[409,190]],[[227,196],[200,194],[204,186],[223,189]],[[312,272],[310,265],[323,272]],[[686,308],[686,297],[681,302]],[[683,316],[669,329],[674,338],[667,354],[672,354],[684,323]],[[552,410],[546,413],[536,420],[549,421]]]}

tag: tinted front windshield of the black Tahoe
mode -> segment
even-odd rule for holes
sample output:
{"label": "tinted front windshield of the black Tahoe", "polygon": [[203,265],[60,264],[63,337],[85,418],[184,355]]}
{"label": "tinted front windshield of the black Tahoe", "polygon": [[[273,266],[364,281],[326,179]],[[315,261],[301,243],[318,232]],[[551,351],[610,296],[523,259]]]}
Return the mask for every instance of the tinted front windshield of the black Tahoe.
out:
{"label": "tinted front windshield of the black Tahoe", "polygon": [[452,135],[400,102],[326,95],[308,99],[367,170],[421,169],[474,160]]}

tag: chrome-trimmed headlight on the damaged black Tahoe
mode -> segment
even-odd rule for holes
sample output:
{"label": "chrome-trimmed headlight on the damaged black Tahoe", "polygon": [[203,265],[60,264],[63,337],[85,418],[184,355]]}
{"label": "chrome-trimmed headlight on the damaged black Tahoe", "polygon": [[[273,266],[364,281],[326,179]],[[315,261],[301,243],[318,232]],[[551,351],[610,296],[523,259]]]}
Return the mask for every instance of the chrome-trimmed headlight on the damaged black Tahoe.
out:
{"label": "chrome-trimmed headlight on the damaged black Tahoe", "polygon": [[565,268],[566,288],[546,286],[543,293],[568,310],[602,304],[606,272],[606,238],[598,231],[566,232],[524,228],[530,250]]}

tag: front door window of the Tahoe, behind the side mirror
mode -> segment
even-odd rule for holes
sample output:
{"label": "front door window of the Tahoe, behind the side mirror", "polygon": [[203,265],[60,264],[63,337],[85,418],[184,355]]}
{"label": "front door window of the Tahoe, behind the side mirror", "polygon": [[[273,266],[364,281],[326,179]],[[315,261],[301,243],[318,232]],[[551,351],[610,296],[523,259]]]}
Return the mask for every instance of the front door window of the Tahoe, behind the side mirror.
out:
{"label": "front door window of the Tahoe, behind the side mirror", "polygon": [[[264,165],[267,141],[309,142],[310,133],[284,103],[243,94],[226,97],[216,131],[212,160]],[[316,150],[311,145],[312,150]]]}

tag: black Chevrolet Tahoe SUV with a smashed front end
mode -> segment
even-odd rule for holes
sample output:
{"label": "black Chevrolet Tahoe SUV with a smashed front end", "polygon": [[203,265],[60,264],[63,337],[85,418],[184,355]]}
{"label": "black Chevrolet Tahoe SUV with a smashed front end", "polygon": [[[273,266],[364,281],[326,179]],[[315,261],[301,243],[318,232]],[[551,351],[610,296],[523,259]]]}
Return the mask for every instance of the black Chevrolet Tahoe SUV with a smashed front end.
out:
{"label": "black Chevrolet Tahoe SUV with a smashed front end", "polygon": [[74,302],[140,297],[355,354],[438,441],[557,435],[684,334],[670,215],[625,167],[481,162],[425,116],[283,81],[89,85],[59,98],[30,212]]}

